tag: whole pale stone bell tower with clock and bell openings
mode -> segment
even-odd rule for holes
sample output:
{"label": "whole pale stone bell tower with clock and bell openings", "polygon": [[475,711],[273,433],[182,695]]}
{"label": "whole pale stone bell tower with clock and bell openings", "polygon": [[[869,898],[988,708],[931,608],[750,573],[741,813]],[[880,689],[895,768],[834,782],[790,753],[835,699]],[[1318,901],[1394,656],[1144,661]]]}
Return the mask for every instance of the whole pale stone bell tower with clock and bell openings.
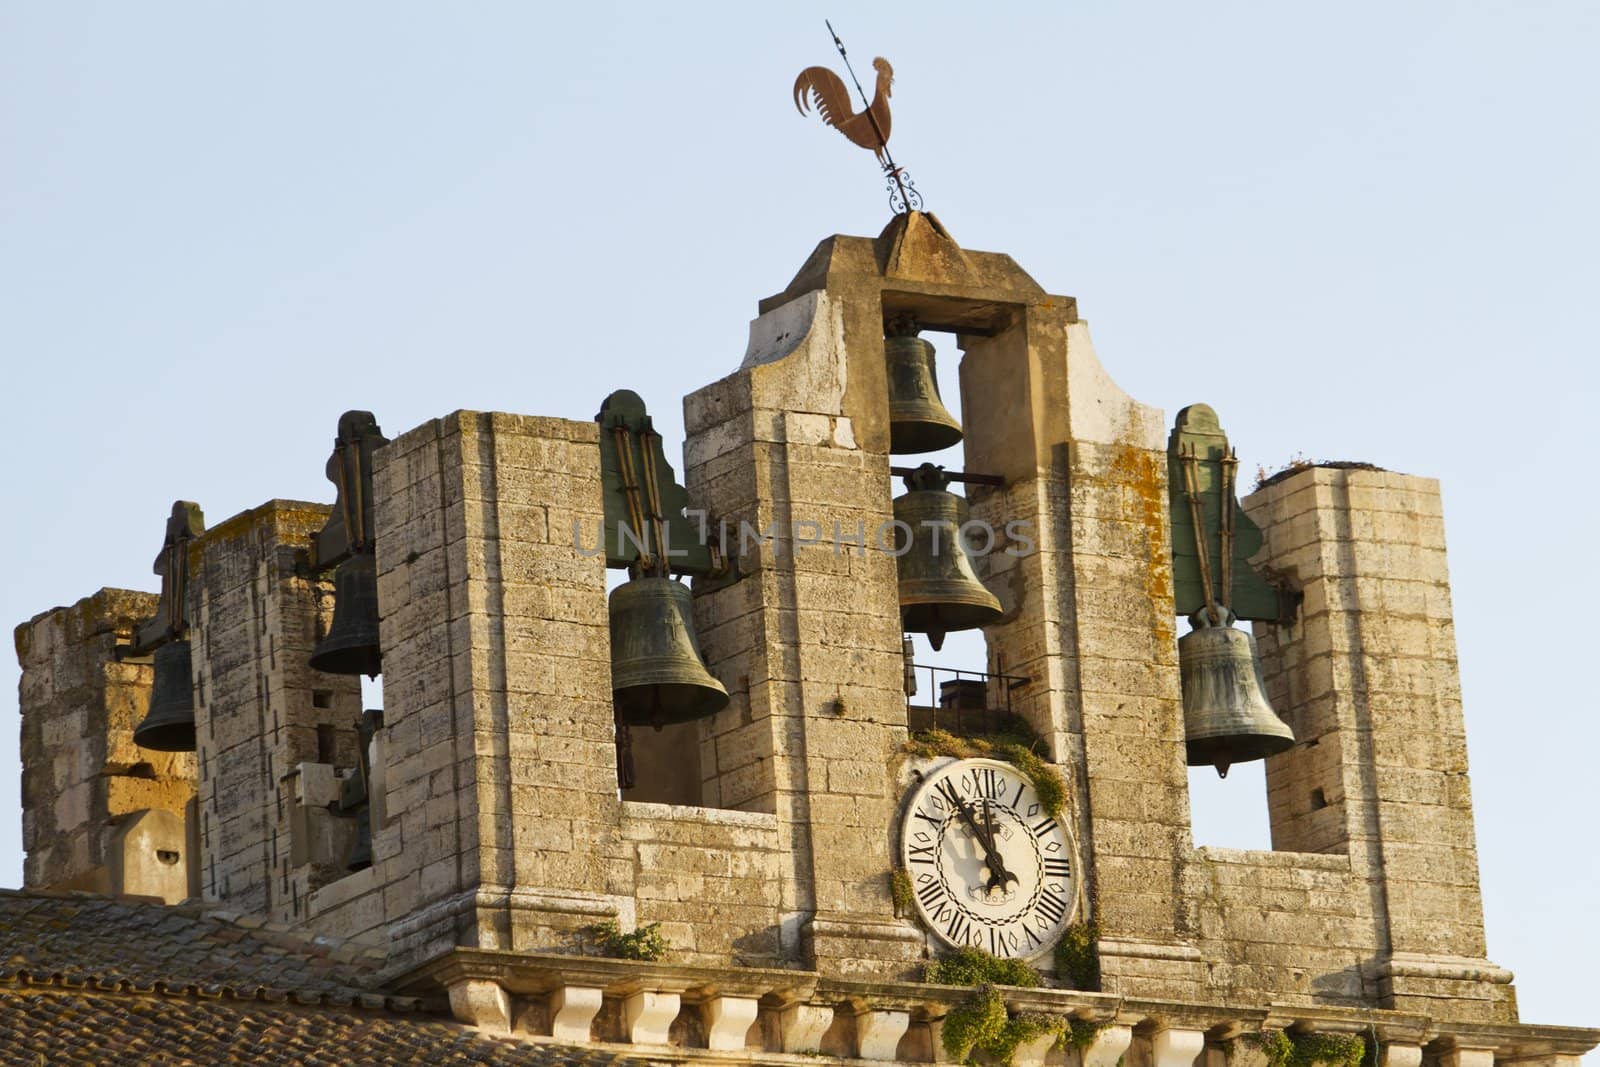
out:
{"label": "whole pale stone bell tower with clock and bell openings", "polygon": [[[891,550],[907,450],[890,355],[918,331],[954,341],[947,368],[960,352],[965,434],[963,470],[918,485],[958,480],[990,531],[962,547],[984,603],[962,625],[982,624],[989,664],[955,688],[981,704],[971,728],[907,697],[904,630],[944,625],[914,625]],[[1077,301],[910,211],[824,240],[760,302],[738,368],[683,398],[682,485],[659,437],[640,445],[643,400],[608,386],[592,421],[456,411],[363,437],[341,483],[368,499],[360,539],[344,498],[195,539],[206,899],[381,945],[392,989],[485,1030],[685,1061],[960,1059],[946,1038],[978,993],[926,968],[973,944],[1038,982],[982,993],[995,1027],[1042,1027],[1013,1046],[1027,1065],[1261,1067],[1235,1041],[1267,1030],[1342,1037],[1382,1067],[1554,1065],[1600,1038],[1518,1022],[1486,955],[1435,483],[1314,467],[1242,502],[1261,549],[1237,561],[1240,616],[1294,742],[1267,758],[1274,848],[1197,849],[1178,645],[1195,533],[1173,510],[1173,427],[1117,387]],[[624,616],[608,595],[608,565],[643,569],[595,544],[624,496],[645,507],[635,533],[658,530],[637,552],[662,553],[650,581],[670,611]],[[339,522],[376,582],[379,648],[370,629],[360,646],[386,704],[362,745],[358,870],[323,817],[358,761],[358,689],[312,669],[339,645],[330,598],[355,587],[318,577]],[[696,561],[674,565],[688,525]],[[104,653],[128,609],[19,632],[26,723],[59,713],[58,630]],[[698,651],[634,619],[691,629]],[[718,699],[667,713],[627,691],[653,685],[629,673],[637,648],[661,645]],[[925,712],[957,736],[917,736]],[[1030,736],[987,736],[990,712]],[[915,846],[918,819],[938,846]],[[930,920],[917,886],[936,878],[909,869],[946,859],[966,881],[941,917],[1043,909],[1032,942]],[[666,958],[614,941],[645,931]]]}

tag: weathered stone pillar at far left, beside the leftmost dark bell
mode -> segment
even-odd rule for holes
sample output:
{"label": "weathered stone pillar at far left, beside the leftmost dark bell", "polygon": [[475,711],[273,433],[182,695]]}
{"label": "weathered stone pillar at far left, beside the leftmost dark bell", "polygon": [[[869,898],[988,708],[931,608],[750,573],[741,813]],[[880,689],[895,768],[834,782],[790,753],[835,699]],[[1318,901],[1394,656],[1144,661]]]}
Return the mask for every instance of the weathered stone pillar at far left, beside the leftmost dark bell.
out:
{"label": "weathered stone pillar at far left, beside the leftmost dark bell", "polygon": [[155,614],[154,593],[102,589],[16,627],[22,667],[22,885],[187,896],[184,809],[195,758],[133,744],[150,659],[117,657]]}

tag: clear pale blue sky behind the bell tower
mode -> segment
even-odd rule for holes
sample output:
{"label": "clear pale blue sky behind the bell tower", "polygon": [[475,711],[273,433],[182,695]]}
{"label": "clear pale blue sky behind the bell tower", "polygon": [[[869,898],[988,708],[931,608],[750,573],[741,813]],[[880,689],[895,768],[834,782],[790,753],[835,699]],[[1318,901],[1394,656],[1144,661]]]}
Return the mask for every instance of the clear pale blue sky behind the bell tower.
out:
{"label": "clear pale blue sky behind the bell tower", "polygon": [[[346,408],[395,434],[589,418],[627,386],[678,440],[677,398],[738,365],[757,299],[888,218],[870,155],[789,98],[837,61],[824,14],[0,6],[0,617],[152,587],[176,498],[211,522],[328,499]],[[858,67],[893,61],[928,208],[1077,296],[1123,387],[1213,403],[1250,472],[1443,480],[1490,955],[1525,1019],[1600,1024],[1600,10],[832,18]],[[1259,776],[1229,785],[1202,840],[1258,833]]]}

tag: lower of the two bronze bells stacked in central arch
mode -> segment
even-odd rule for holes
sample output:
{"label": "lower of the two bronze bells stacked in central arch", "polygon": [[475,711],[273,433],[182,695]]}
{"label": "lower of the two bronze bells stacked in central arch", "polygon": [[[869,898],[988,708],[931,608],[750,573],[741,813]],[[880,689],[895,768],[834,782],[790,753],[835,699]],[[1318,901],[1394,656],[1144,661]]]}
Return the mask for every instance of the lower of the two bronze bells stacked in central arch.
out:
{"label": "lower of the two bronze bells stacked in central arch", "polygon": [[[984,589],[962,544],[970,520],[966,499],[946,491],[949,478],[933,464],[906,477],[910,493],[894,498],[896,565],[899,566],[901,625],[926,633],[934,649],[952,630],[973,630],[1000,619],[1000,601]],[[931,523],[931,525],[925,525]],[[904,542],[906,526],[910,544]]]}

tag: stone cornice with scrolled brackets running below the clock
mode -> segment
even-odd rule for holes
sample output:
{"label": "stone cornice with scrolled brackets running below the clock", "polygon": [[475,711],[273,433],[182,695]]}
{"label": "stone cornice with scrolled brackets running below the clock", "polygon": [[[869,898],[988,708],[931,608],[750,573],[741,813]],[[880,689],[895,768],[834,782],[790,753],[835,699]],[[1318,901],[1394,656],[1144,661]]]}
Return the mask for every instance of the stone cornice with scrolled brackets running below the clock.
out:
{"label": "stone cornice with scrolled brackets running below the clock", "polygon": [[[955,985],[862,982],[776,968],[715,968],[458,949],[397,981],[406,993],[448,997],[453,1014],[530,1041],[597,1045],[739,1062],[834,1056],[872,1062],[949,1062],[941,1030],[971,995]],[[1437,1022],[1365,1008],[1272,1003],[1235,1008],[1064,989],[1003,989],[1006,1008],[1093,1024],[1082,1048],[1053,1035],[1024,1041],[1016,1067],[1262,1067],[1237,1038],[1261,1030],[1350,1033],[1376,1040],[1382,1067],[1494,1062],[1571,1067],[1592,1043],[1568,1027]],[[712,1056],[715,1059],[717,1056]],[[1256,1062],[1259,1061],[1259,1062]]]}

